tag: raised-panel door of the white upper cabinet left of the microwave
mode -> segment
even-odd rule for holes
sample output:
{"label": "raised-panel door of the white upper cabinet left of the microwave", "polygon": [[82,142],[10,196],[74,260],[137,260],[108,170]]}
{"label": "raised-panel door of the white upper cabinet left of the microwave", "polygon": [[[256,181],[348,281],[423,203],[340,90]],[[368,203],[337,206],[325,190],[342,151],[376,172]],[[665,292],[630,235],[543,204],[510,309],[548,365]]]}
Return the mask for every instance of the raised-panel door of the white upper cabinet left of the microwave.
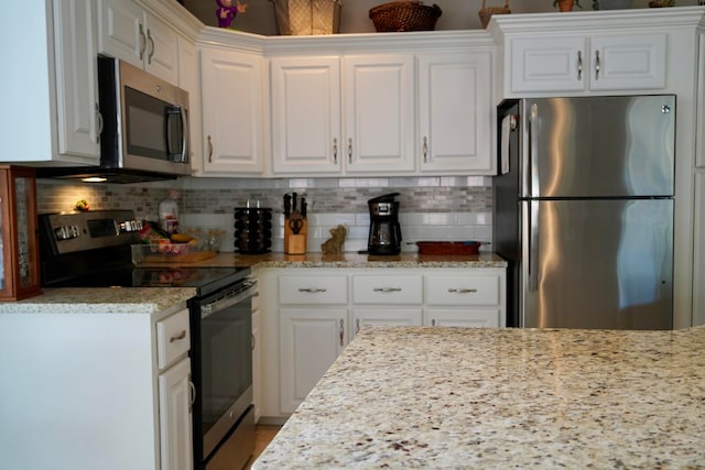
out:
{"label": "raised-panel door of the white upper cabinet left of the microwave", "polygon": [[100,157],[95,4],[55,0],[58,153]]}

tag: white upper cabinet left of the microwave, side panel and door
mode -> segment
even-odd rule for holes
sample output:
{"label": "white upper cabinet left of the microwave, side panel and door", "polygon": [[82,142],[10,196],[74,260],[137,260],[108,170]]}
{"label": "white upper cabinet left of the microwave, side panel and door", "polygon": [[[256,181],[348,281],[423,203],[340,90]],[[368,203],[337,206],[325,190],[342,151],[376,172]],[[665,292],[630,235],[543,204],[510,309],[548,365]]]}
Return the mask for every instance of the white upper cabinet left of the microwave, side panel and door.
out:
{"label": "white upper cabinet left of the microwave, side panel and door", "polygon": [[94,3],[40,2],[28,14],[12,2],[2,15],[0,161],[98,164]]}

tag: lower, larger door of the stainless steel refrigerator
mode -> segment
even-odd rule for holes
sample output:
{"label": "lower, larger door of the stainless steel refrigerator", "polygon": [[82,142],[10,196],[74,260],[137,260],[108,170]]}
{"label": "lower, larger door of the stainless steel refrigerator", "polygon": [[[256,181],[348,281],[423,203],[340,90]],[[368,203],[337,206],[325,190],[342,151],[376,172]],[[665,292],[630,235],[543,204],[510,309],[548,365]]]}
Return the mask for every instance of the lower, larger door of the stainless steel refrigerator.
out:
{"label": "lower, larger door of the stainless steel refrigerator", "polygon": [[521,203],[524,327],[671,329],[673,200]]}

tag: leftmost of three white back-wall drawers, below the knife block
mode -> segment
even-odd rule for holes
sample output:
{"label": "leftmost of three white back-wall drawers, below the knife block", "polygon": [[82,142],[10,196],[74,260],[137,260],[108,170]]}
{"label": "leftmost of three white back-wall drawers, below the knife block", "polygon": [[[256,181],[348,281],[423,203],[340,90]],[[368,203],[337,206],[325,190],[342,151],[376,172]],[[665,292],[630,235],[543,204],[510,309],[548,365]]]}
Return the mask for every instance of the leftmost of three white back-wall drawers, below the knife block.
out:
{"label": "leftmost of three white back-wall drawers, below the knife block", "polygon": [[294,305],[347,304],[346,275],[279,277],[279,303]]}

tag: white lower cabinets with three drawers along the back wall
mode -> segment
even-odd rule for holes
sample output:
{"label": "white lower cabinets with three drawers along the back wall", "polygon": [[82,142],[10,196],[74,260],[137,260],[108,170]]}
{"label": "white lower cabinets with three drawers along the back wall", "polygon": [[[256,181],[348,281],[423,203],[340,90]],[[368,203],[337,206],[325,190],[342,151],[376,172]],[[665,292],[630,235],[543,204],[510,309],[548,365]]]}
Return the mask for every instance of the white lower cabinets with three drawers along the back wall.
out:
{"label": "white lower cabinets with three drawers along the back wall", "polygon": [[367,325],[506,326],[503,267],[283,267],[258,278],[264,422],[293,413]]}

